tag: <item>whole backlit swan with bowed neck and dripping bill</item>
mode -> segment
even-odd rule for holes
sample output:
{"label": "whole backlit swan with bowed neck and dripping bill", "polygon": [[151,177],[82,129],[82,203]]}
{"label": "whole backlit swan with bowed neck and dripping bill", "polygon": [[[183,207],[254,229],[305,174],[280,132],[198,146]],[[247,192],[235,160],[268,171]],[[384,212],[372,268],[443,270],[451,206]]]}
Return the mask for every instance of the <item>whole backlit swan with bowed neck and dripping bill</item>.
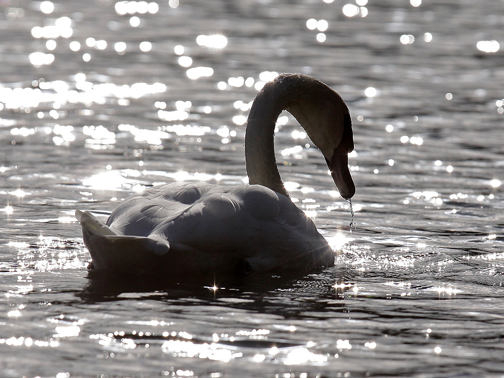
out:
{"label": "whole backlit swan with bowed neck and dripping bill", "polygon": [[350,112],[320,80],[282,74],[254,99],[245,132],[247,185],[172,182],[126,198],[106,223],[76,211],[97,270],[246,275],[334,265],[334,251],[290,200],[275,160],[275,122],[289,111],[321,150],[340,195],[355,185]]}

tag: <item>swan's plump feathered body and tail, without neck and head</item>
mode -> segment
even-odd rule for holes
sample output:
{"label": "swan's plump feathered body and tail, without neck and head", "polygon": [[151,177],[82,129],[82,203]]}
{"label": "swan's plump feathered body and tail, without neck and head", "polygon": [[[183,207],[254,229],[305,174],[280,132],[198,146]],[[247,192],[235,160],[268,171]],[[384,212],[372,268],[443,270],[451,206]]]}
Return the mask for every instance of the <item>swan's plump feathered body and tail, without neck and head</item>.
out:
{"label": "swan's plump feathered body and tail, without neck and head", "polygon": [[243,267],[305,270],[334,264],[334,252],[313,222],[290,199],[262,185],[155,186],[112,212],[104,227],[114,235],[94,234],[82,219],[81,224],[97,269],[113,269],[118,256],[121,270],[134,273],[229,274]]}

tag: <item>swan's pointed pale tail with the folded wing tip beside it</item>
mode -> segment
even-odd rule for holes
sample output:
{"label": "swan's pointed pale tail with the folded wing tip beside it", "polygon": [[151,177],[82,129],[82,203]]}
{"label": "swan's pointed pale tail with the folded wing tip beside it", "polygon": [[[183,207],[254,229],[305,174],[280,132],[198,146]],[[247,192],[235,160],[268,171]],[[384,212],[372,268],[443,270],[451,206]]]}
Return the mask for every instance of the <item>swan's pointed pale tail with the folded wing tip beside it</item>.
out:
{"label": "swan's pointed pale tail with the folded wing tip beside it", "polygon": [[163,265],[169,250],[166,240],[119,235],[88,211],[76,211],[84,243],[97,270],[150,274]]}

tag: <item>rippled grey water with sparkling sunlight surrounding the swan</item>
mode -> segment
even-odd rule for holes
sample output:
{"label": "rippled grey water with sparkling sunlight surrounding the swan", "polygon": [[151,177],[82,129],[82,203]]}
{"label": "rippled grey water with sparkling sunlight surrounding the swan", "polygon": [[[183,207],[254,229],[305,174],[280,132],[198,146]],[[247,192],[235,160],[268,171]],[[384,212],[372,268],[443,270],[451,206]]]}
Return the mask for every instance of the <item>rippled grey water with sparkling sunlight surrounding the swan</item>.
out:
{"label": "rippled grey water with sparkling sunlight surrounding the swan", "polygon": [[[502,2],[0,4],[1,376],[504,375]],[[336,266],[88,272],[75,209],[242,183],[244,117],[274,72],[320,78],[352,114],[352,233],[290,115],[276,136]]]}

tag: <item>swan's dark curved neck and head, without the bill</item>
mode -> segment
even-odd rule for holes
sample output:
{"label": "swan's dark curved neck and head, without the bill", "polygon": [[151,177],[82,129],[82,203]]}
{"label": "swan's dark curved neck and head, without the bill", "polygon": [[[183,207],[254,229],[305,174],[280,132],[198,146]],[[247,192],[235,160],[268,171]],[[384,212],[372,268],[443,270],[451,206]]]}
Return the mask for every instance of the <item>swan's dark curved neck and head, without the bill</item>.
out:
{"label": "swan's dark curved neck and head, without the bill", "polygon": [[289,197],[278,172],[273,144],[275,122],[282,110],[297,119],[329,162],[342,139],[344,153],[353,150],[353,134],[348,107],[320,80],[301,74],[282,74],[267,83],[248,114],[246,170],[250,184],[261,184]]}

